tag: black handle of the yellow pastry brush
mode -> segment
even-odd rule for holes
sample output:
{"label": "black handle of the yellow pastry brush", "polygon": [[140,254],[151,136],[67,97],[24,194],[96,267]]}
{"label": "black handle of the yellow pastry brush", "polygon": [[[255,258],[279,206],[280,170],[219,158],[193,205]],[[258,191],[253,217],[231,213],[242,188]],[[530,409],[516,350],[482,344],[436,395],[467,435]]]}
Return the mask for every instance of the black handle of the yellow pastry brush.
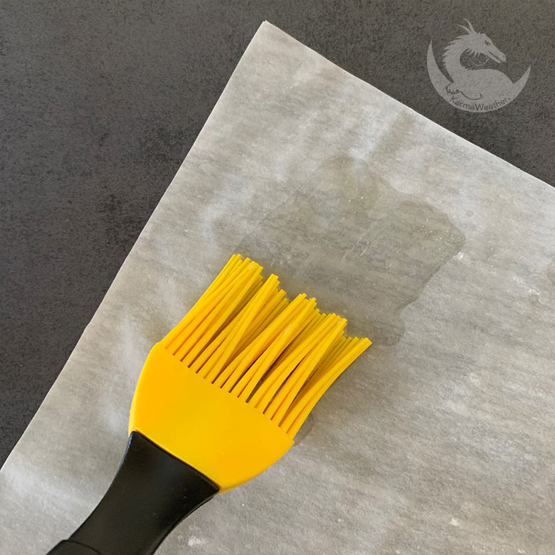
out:
{"label": "black handle of the yellow pastry brush", "polygon": [[67,541],[48,555],[150,555],[218,486],[132,432],[114,481]]}

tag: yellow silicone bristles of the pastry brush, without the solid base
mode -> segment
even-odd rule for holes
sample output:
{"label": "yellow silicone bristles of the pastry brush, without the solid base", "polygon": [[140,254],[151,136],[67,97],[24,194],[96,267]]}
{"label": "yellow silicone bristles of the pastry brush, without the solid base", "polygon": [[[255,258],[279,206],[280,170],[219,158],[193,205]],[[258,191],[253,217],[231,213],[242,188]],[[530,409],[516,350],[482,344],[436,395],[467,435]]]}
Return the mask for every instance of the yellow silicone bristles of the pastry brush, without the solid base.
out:
{"label": "yellow silicone bristles of the pastry brush, without the solid base", "polygon": [[214,387],[256,408],[291,438],[339,374],[371,342],[316,300],[291,302],[277,276],[233,255],[162,347]]}

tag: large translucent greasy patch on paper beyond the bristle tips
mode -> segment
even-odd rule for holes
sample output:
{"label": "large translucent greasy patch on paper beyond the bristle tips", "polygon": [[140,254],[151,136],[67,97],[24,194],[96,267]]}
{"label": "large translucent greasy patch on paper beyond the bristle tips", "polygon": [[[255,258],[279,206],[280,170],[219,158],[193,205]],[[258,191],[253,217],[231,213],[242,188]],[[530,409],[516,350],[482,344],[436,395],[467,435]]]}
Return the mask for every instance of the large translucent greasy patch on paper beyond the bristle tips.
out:
{"label": "large translucent greasy patch on paper beyond the bristle tips", "polygon": [[393,345],[403,308],[464,242],[445,213],[396,191],[365,162],[333,157],[238,251],[279,275],[285,290],[347,317],[351,332]]}

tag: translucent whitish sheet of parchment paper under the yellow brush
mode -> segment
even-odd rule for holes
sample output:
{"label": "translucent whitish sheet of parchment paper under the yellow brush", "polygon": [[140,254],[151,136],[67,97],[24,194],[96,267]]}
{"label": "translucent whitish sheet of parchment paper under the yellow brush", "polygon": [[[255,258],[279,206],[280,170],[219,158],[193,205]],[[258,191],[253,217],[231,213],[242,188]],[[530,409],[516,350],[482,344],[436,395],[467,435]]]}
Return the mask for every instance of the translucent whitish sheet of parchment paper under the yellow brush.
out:
{"label": "translucent whitish sheet of parchment paper under the yellow brush", "polygon": [[1,554],[93,509],[149,348],[234,252],[374,345],[160,555],[555,553],[555,190],[265,23],[1,470]]}

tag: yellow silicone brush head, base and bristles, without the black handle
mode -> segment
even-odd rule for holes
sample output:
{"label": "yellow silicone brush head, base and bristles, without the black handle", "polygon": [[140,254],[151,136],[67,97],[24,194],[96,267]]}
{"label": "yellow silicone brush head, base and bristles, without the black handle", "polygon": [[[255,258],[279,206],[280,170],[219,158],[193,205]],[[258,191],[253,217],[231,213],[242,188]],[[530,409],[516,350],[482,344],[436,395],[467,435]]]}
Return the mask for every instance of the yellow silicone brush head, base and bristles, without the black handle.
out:
{"label": "yellow silicone brush head, base and bristles, without the black handle", "polygon": [[135,390],[136,430],[221,491],[280,458],[319,398],[369,339],[316,301],[291,302],[277,276],[233,255],[149,354]]}

